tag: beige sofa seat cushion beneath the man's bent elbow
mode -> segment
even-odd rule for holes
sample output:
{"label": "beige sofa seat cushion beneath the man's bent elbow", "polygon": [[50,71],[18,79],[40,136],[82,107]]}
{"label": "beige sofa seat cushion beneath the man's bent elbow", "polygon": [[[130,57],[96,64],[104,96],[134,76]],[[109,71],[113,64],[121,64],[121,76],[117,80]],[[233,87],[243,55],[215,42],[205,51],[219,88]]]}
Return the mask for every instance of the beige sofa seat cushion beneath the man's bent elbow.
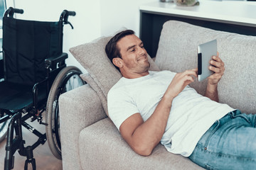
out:
{"label": "beige sofa seat cushion beneath the man's bent elbow", "polygon": [[109,118],[80,132],[79,151],[81,160],[86,160],[81,161],[82,169],[202,169],[188,158],[167,152],[160,144],[149,157],[136,154]]}

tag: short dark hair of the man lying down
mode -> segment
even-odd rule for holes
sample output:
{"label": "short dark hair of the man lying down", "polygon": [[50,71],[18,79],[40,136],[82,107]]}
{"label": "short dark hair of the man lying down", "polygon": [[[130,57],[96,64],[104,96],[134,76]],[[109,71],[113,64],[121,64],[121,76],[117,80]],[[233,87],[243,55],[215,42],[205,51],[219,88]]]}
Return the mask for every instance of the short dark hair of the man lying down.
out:
{"label": "short dark hair of the man lying down", "polygon": [[[120,54],[120,49],[119,47],[117,47],[117,42],[122,38],[124,38],[126,35],[133,35],[133,34],[134,34],[133,30],[123,30],[122,32],[114,35],[114,37],[111,38],[109,42],[107,42],[107,45],[105,47],[105,52],[107,53],[107,57],[109,57],[112,64],[113,64],[113,61],[112,61],[113,58],[117,58],[117,57],[122,58]],[[115,65],[114,67],[116,67],[119,70],[119,67]]]}

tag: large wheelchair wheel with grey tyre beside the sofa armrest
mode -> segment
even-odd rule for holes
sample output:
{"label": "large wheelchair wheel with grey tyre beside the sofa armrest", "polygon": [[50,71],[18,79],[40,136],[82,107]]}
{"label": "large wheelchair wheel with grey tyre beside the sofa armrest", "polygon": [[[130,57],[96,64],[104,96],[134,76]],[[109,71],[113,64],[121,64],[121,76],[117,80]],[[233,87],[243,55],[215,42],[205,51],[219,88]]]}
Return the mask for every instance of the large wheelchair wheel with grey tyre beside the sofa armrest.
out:
{"label": "large wheelchair wheel with grey tyre beside the sofa armrest", "polygon": [[80,74],[82,72],[77,67],[65,67],[60,71],[50,88],[46,105],[46,123],[48,123],[46,136],[51,152],[58,159],[61,159],[58,98],[60,94],[85,84],[85,81],[79,77]]}

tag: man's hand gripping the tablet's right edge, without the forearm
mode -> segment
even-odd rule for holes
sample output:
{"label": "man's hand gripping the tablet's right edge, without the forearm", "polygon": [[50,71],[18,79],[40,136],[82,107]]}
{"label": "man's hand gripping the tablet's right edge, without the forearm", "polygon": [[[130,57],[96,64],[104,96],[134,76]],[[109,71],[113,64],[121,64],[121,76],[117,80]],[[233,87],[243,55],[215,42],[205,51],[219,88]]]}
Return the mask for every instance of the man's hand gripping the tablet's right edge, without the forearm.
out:
{"label": "man's hand gripping the tablet's right edge, without the forearm", "polygon": [[213,56],[213,60],[210,60],[210,64],[212,64],[212,66],[210,66],[209,69],[213,71],[214,74],[208,77],[208,84],[216,85],[218,84],[218,82],[220,81],[221,77],[224,74],[225,64],[220,59],[218,52],[217,52],[217,56]]}

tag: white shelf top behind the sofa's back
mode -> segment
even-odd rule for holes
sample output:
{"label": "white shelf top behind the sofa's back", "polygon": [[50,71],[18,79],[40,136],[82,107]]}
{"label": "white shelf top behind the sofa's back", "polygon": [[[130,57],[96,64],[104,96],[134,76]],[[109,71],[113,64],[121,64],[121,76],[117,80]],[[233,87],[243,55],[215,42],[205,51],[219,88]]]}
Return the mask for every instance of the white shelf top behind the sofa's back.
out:
{"label": "white shelf top behind the sofa's back", "polygon": [[190,7],[176,6],[173,2],[153,2],[144,4],[139,9],[151,13],[256,27],[256,2],[252,1],[200,1],[199,6]]}

